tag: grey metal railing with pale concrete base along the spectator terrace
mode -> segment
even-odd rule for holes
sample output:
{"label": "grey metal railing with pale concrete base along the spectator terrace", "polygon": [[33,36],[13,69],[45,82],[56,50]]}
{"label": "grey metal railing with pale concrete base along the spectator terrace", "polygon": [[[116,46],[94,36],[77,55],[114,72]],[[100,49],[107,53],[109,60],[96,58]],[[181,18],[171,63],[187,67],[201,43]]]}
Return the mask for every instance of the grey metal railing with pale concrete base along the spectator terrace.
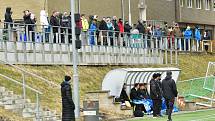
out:
{"label": "grey metal railing with pale concrete base along the spectator terrace", "polygon": [[[7,25],[6,25],[7,24]],[[72,64],[71,29],[1,23],[1,59],[19,64]],[[89,30],[82,41],[80,65],[177,64],[178,51],[202,51],[194,39]]]}

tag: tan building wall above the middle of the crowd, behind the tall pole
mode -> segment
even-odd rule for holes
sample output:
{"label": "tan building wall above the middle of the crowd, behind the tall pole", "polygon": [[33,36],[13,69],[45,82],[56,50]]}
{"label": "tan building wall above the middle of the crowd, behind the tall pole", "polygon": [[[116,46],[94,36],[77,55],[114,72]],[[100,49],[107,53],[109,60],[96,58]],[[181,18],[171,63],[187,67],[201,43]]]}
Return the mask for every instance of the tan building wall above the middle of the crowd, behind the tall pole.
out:
{"label": "tan building wall above the middle of the crowd, behind the tall pole", "polygon": [[[116,15],[118,18],[122,17],[121,13],[121,0],[80,0],[81,1],[81,13],[89,15],[98,15],[102,17],[109,17]],[[128,0],[125,1],[125,18],[128,20]],[[139,18],[138,10],[139,0],[131,0],[131,13],[132,22],[136,23]],[[70,11],[69,0],[49,0],[48,11],[51,14],[53,10],[60,12]],[[76,7],[77,11],[77,7]]]}

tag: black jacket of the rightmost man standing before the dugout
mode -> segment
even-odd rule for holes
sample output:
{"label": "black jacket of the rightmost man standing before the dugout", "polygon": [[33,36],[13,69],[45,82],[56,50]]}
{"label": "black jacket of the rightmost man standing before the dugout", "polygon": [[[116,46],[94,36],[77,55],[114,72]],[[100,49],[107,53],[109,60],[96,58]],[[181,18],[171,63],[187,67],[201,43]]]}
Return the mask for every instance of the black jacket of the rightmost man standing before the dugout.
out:
{"label": "black jacket of the rightmost man standing before the dugout", "polygon": [[163,96],[166,99],[174,99],[178,95],[175,81],[172,79],[171,76],[167,76],[162,81],[162,90],[163,90]]}

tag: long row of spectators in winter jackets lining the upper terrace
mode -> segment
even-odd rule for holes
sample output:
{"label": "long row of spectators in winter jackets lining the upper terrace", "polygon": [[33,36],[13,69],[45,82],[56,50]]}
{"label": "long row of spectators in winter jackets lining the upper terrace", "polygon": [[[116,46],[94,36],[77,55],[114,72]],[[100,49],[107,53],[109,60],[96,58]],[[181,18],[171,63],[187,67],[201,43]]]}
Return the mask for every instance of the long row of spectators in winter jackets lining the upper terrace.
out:
{"label": "long row of spectators in winter jackets lining the upper terrace", "polygon": [[[25,10],[23,15],[23,21],[25,24],[29,24],[26,32],[35,31],[35,25],[41,25],[43,32],[49,33],[50,27],[54,33],[53,42],[56,43],[57,33],[66,33],[71,34],[71,14],[67,12],[60,13],[58,11],[53,11],[51,17],[49,18],[45,10],[40,12],[40,23],[38,23],[35,15],[29,11]],[[5,20],[4,22],[12,23],[12,11],[10,7],[6,8]],[[5,24],[5,28],[8,28],[9,24]],[[59,27],[61,27],[59,29]],[[211,35],[209,31],[201,31],[199,26],[191,28],[187,26],[186,29],[179,27],[178,23],[173,23],[173,25],[168,25],[167,22],[162,24],[152,25],[146,21],[137,21],[137,24],[130,25],[128,21],[123,21],[117,16],[113,17],[102,17],[99,20],[97,15],[89,15],[88,17],[85,14],[81,14],[80,20],[76,21],[76,27],[80,29],[80,34],[82,35],[82,44],[86,45],[89,42],[90,45],[95,45],[97,39],[97,44],[101,44],[100,36],[103,36],[102,42],[104,45],[107,45],[107,38],[109,37],[111,45],[113,45],[114,39],[117,40],[119,37],[125,37],[125,35],[133,39],[140,38],[140,34],[147,35],[148,38],[151,36],[156,37],[158,40],[161,40],[163,36],[168,38],[174,44],[174,38],[183,37],[185,40],[194,38],[196,42],[200,42],[202,39],[210,40]],[[68,29],[65,29],[68,28]],[[60,31],[60,32],[59,32]],[[131,36],[132,35],[132,36]],[[48,38],[48,35],[46,35]],[[34,39],[34,37],[32,37]],[[71,36],[69,36],[69,41]],[[64,35],[61,36],[61,42],[64,42]],[[119,43],[118,43],[119,44]],[[150,43],[149,43],[150,44]],[[183,44],[183,42],[182,42]],[[169,44],[170,45],[170,44]],[[186,41],[186,49],[188,41]]]}

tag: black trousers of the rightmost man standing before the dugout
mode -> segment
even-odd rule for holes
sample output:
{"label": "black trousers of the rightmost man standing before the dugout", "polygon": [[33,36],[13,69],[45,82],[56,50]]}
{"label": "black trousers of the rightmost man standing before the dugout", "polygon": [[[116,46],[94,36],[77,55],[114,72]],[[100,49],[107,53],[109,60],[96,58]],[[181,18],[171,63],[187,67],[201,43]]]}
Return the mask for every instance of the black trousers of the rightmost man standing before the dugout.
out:
{"label": "black trousers of the rightmost man standing before the dugout", "polygon": [[165,102],[166,102],[166,113],[168,115],[168,119],[171,120],[172,119],[172,110],[173,110],[173,106],[174,106],[174,102],[175,102],[175,99],[165,99]]}

